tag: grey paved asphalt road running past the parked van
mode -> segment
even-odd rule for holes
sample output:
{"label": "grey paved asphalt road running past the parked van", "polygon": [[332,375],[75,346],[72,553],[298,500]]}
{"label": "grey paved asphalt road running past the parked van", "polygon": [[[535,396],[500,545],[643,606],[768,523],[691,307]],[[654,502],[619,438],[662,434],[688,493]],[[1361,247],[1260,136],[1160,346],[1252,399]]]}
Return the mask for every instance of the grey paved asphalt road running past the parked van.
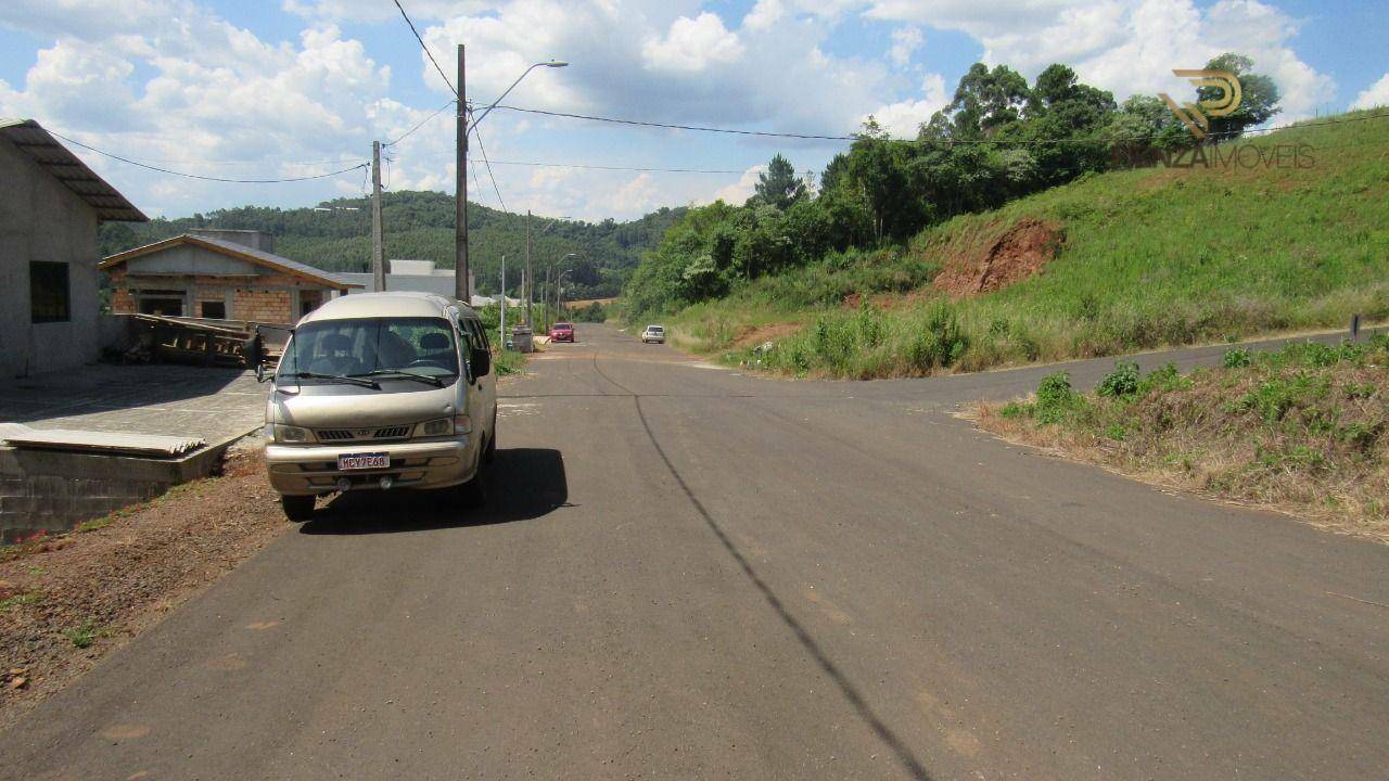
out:
{"label": "grey paved asphalt road running past the parked van", "polygon": [[1389,546],[947,414],[1043,370],[581,338],[506,388],[486,509],[335,500],[0,735],[0,777],[1389,773],[1389,609],[1338,596],[1389,603]]}

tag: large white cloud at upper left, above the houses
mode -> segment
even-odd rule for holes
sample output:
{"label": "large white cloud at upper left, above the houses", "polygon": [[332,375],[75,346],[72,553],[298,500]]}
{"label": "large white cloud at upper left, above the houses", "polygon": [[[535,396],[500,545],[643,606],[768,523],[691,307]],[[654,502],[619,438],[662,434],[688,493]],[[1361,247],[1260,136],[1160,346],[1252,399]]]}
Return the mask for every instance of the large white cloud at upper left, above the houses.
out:
{"label": "large white cloud at upper left, above the houses", "polygon": [[[108,4],[86,0],[18,6],[25,29],[64,21],[46,6],[74,15],[38,51],[22,83],[0,86],[0,114],[32,117],[125,157],[226,178],[311,175],[365,160],[381,133],[371,117],[383,124],[390,117],[374,110],[388,92],[389,68],[332,25],[271,44],[183,0],[129,3],[129,17],[101,17]],[[4,8],[11,11],[15,6]],[[18,26],[8,15],[0,22]],[[332,186],[213,183],[75,151],[151,214],[318,200]],[[344,176],[342,186],[360,193],[360,176]]]}

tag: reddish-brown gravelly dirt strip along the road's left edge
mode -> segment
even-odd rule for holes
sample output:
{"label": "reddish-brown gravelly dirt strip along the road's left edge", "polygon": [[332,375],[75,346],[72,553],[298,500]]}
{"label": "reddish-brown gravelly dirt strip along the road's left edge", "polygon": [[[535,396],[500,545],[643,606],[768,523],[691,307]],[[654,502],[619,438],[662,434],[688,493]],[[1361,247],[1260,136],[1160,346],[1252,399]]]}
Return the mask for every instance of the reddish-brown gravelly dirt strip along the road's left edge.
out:
{"label": "reddish-brown gravelly dirt strip along the road's left edge", "polygon": [[233,449],[221,477],[0,548],[0,727],[288,528],[264,470]]}

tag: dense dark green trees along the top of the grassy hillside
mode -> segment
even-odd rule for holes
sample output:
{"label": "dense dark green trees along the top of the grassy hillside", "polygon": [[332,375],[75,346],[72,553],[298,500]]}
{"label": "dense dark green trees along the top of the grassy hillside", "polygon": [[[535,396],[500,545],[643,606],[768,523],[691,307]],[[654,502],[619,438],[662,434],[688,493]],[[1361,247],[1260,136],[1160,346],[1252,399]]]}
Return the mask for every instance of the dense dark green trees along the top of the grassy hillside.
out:
{"label": "dense dark green trees along the top of the grassy hillside", "polygon": [[[1206,67],[1233,72],[1243,86],[1238,111],[1211,118],[1207,142],[1238,138],[1278,111],[1276,86],[1251,74],[1247,57],[1222,54]],[[675,311],[807,265],[825,264],[826,274],[872,265],[878,250],[951,217],[1196,143],[1157,96],[1120,104],[1067,65],[1029,85],[1007,65],[978,63],[917,138],[890,139],[870,117],[818,183],[776,156],[745,204],[690,208],[632,275],[628,313]]]}

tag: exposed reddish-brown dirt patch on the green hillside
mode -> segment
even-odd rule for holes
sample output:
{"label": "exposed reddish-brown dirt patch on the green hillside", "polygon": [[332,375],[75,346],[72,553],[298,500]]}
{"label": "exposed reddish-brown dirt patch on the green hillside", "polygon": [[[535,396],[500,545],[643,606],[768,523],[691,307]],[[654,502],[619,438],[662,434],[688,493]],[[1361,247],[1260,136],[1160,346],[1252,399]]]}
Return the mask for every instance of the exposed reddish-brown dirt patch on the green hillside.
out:
{"label": "exposed reddish-brown dirt patch on the green hillside", "polygon": [[943,247],[940,274],[932,285],[953,299],[990,293],[1039,274],[1065,243],[1065,231],[1054,222],[1025,218],[1001,235],[988,228]]}

